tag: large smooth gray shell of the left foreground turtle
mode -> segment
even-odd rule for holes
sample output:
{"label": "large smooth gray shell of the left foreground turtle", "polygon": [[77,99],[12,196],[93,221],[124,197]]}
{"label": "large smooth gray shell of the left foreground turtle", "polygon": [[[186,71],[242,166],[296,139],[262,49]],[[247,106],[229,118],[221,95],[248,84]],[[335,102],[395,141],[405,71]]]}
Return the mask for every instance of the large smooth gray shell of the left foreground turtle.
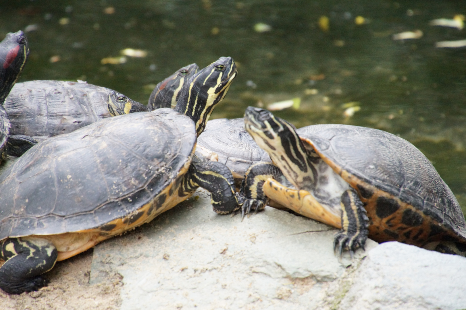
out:
{"label": "large smooth gray shell of the left foreground turtle", "polygon": [[168,201],[159,194],[181,182],[195,142],[194,122],[162,108],[38,143],[0,177],[0,240],[102,227]]}

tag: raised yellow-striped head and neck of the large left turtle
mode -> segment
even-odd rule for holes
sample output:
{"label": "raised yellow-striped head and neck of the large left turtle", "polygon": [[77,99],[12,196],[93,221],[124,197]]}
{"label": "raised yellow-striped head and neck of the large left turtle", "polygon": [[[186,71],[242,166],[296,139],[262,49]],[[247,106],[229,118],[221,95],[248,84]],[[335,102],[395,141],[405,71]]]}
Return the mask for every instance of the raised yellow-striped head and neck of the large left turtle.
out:
{"label": "raised yellow-striped head and neck of the large left turtle", "polygon": [[198,136],[206,128],[213,108],[223,100],[235,76],[233,58],[220,57],[192,75],[181,90],[175,111],[191,117]]}

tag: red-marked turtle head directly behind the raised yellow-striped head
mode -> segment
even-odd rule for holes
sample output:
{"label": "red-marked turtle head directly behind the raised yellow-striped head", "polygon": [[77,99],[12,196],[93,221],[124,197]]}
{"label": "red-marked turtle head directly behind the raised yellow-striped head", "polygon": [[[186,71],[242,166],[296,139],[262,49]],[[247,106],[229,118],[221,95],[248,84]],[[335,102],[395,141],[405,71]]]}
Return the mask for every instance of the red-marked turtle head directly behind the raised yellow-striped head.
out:
{"label": "red-marked turtle head directly behind the raised yellow-striped head", "polygon": [[147,108],[150,111],[158,108],[175,108],[181,89],[198,70],[198,65],[192,63],[178,69],[174,74],[158,83],[149,97]]}

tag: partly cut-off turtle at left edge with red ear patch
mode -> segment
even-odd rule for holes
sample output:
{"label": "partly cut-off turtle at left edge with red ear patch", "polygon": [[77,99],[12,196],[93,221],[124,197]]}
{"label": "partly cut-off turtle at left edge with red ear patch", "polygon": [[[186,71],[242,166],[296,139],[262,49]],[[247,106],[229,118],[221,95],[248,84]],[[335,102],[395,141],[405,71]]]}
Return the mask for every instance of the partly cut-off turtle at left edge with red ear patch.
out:
{"label": "partly cut-off turtle at left edge with red ear patch", "polygon": [[9,115],[2,105],[18,80],[28,55],[29,47],[21,30],[8,33],[0,42],[0,162],[6,155],[22,154],[37,143],[28,136],[12,134]]}

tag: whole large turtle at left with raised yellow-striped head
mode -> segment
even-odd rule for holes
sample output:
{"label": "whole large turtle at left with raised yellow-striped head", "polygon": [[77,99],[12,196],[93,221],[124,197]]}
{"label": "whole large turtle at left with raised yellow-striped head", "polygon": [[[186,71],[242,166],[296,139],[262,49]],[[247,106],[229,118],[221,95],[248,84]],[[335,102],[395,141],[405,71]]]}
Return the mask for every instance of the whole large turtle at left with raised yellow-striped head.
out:
{"label": "whole large turtle at left with raised yellow-striped head", "polygon": [[37,290],[56,261],[151,221],[199,186],[217,213],[239,209],[231,171],[194,155],[235,76],[233,59],[220,57],[192,76],[175,110],[106,118],[19,157],[0,176],[0,288]]}

